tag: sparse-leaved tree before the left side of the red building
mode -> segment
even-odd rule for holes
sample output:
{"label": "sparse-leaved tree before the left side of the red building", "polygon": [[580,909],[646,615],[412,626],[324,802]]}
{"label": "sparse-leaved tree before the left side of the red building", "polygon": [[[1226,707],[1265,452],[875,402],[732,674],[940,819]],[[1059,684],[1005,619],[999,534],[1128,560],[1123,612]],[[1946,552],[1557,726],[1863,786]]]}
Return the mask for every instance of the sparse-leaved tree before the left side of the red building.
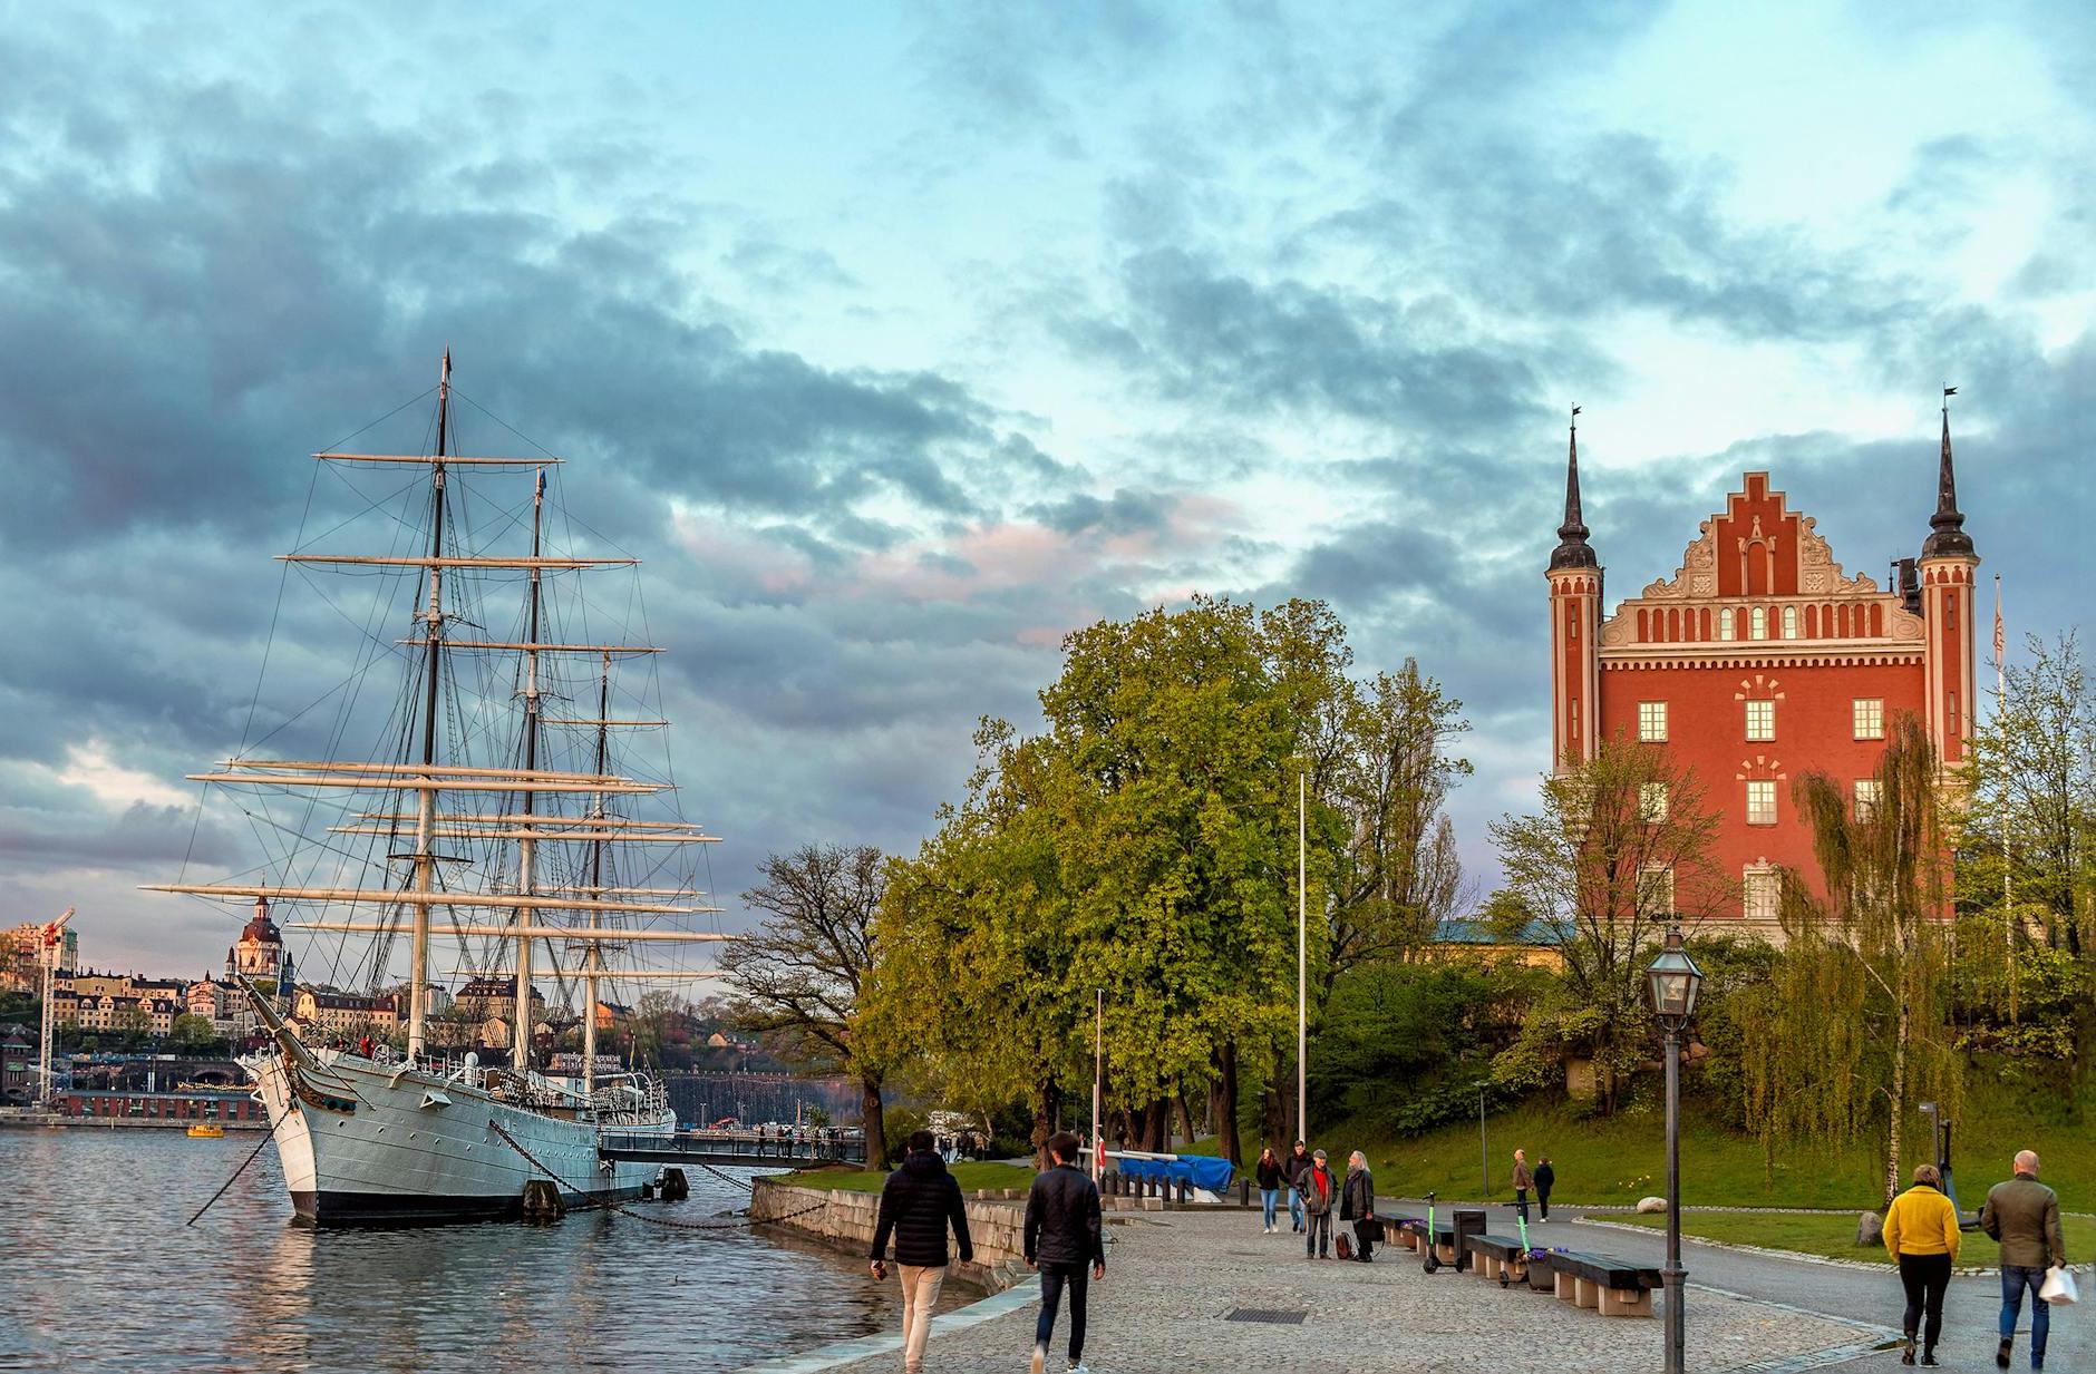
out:
{"label": "sparse-leaved tree before the left side of the red building", "polygon": [[1696,928],[1733,896],[1710,859],[1717,817],[1694,771],[1618,735],[1543,781],[1543,811],[1492,823],[1507,890],[1501,913],[1538,922],[1564,976],[1501,1056],[1509,1083],[1538,1083],[1555,1056],[1593,1058],[1597,1106],[1612,1114],[1652,1041],[1645,968],[1671,924]]}

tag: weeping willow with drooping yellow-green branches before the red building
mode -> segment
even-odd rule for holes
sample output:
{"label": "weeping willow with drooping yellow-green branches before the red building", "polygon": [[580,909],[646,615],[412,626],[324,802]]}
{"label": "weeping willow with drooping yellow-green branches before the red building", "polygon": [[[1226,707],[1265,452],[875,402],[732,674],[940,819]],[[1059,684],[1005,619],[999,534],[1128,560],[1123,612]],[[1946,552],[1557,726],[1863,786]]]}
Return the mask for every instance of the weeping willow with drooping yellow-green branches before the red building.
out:
{"label": "weeping willow with drooping yellow-green branches before the red building", "polygon": [[1884,1196],[1899,1190],[1912,1102],[1956,1110],[1949,1024],[1949,850],[1935,746],[1914,716],[1893,723],[1876,798],[1826,773],[1792,785],[1813,832],[1826,894],[1784,873],[1784,955],[1744,1028],[1746,1118],[1763,1158],[1792,1144],[1834,1148],[1886,1112]]}

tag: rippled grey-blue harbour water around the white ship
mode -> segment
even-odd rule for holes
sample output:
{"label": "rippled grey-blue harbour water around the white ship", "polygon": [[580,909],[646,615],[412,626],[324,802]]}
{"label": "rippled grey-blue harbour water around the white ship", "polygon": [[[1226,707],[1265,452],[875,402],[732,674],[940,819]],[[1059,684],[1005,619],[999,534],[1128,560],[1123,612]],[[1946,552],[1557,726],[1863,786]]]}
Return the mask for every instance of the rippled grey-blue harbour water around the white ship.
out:
{"label": "rippled grey-blue harbour water around the white ship", "polygon": [[[314,1232],[275,1150],[184,1227],[260,1139],[0,1131],[0,1368],[738,1370],[899,1320],[864,1263],[740,1225]],[[746,1196],[696,1173],[635,1209],[708,1221]]]}

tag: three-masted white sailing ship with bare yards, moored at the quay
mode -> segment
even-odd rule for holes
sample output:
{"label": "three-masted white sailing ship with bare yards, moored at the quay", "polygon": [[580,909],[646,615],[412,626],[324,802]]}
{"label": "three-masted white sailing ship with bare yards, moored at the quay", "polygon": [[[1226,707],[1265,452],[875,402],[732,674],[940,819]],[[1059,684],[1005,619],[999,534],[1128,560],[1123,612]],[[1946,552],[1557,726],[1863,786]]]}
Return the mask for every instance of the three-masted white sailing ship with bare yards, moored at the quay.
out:
{"label": "three-masted white sailing ship with bare yards, moored at the quay", "polygon": [[[608,568],[637,576],[637,559],[549,553],[547,478],[562,459],[453,452],[455,400],[446,350],[428,452],[314,455],[337,471],[409,471],[386,528],[407,528],[411,542],[390,553],[308,551],[302,532],[300,551],[281,555],[298,570],[379,574],[394,584],[394,614],[409,610],[400,601],[411,605],[407,639],[375,641],[400,660],[400,693],[384,729],[392,748],[365,758],[256,758],[243,741],[239,756],[193,781],[205,783],[208,798],[239,798],[275,832],[287,829],[285,808],[270,811],[270,800],[298,798],[304,825],[291,827],[289,852],[220,882],[153,884],[252,899],[264,922],[272,905],[289,909],[296,919],[285,926],[329,940],[337,959],[361,951],[354,963],[371,987],[392,976],[396,936],[409,936],[405,1054],[373,1037],[308,1043],[312,1026],[293,1024],[277,997],[239,978],[268,1033],[268,1047],[241,1064],[268,1110],[296,1213],[323,1225],[514,1217],[528,1188],[543,1196],[547,1185],[566,1206],[641,1196],[660,1171],[608,1158],[604,1137],[669,1135],[675,1116],[658,1081],[602,1070],[606,989],[614,980],[713,976],[637,961],[729,938],[690,922],[719,911],[696,903],[685,859],[713,836],[673,806],[669,819],[639,815],[648,802],[673,802],[669,769],[646,777],[618,771],[614,758],[614,739],[635,737],[627,731],[667,725],[652,714],[614,714],[614,670],[658,649],[564,633],[604,616],[587,599],[564,610],[555,591]],[[497,498],[486,498],[488,488]],[[480,505],[467,507],[470,498]],[[507,517],[484,519],[490,509]],[[495,540],[474,547],[488,528]],[[511,599],[518,628],[484,628]],[[377,660],[369,653],[352,679]],[[591,697],[595,714],[585,714]],[[348,706],[337,708],[329,739],[354,718]],[[555,767],[562,750],[568,767]],[[252,798],[260,798],[254,811],[245,804]],[[507,1064],[482,1064],[457,1035],[463,1026],[434,1016],[440,951],[457,955],[449,976],[470,976],[482,989],[507,980],[505,991],[514,991]],[[534,1064],[541,974],[583,999],[583,1051],[568,1072]],[[501,1056],[490,1049],[490,1058]]]}

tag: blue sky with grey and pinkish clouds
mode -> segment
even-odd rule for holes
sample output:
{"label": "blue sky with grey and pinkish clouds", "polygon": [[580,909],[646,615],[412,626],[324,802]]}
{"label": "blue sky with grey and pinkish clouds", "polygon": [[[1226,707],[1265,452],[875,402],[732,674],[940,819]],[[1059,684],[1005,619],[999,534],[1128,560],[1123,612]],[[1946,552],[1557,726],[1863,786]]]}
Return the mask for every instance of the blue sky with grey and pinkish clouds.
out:
{"label": "blue sky with grey and pinkish clouds", "polygon": [[348,658],[308,455],[444,348],[643,559],[729,928],[1191,593],[1459,695],[1488,888],[1572,404],[1622,597],[1744,469],[1882,576],[1958,385],[2010,637],[2079,624],[2092,77],[2077,4],[0,4],[0,922],[222,961],[136,886],[239,867],[184,775]]}

